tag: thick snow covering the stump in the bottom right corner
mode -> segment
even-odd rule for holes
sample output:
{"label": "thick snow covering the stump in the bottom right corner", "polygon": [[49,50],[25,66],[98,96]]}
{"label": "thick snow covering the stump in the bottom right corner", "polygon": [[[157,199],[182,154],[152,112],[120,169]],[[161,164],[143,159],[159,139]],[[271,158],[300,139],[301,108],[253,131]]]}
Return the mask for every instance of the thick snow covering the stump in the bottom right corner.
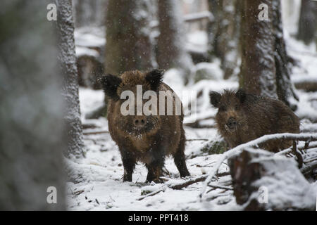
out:
{"label": "thick snow covering the stump in the bottom right corner", "polygon": [[[266,207],[268,210],[285,209],[285,207],[311,209],[316,205],[316,188],[309,184],[299,172],[294,159],[285,159],[271,154],[251,162],[261,162],[266,169],[266,174],[269,174],[252,184],[252,186],[267,188],[268,205]],[[280,172],[277,173],[276,169],[280,169]],[[253,198],[259,198],[259,193],[252,193],[249,200]]]}

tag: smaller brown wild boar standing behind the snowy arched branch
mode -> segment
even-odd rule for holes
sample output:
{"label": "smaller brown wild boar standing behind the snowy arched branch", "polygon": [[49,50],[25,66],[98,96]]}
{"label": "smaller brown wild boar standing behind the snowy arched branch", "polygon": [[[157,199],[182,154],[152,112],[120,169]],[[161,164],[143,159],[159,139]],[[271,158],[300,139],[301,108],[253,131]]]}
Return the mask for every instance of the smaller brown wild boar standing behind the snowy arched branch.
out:
{"label": "smaller brown wild boar standing behind the snowy arched branch", "polygon": [[[218,108],[216,124],[230,148],[265,134],[299,133],[299,119],[282,101],[247,94],[244,90],[211,91],[211,105]],[[292,141],[269,141],[260,148],[272,152],[288,148]]]}

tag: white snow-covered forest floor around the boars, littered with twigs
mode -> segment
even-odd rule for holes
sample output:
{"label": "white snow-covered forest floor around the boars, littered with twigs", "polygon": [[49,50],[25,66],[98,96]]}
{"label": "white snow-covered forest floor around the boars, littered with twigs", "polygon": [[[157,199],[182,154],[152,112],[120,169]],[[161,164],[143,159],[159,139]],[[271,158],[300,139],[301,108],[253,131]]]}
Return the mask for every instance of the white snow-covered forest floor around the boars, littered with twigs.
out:
{"label": "white snow-covered forest floor around the boars, littered with twigs", "polygon": [[[292,79],[317,77],[317,56],[315,46],[304,44],[287,37],[287,50],[296,60],[299,67],[294,68]],[[222,74],[219,63],[209,63],[215,72]],[[216,76],[217,77],[217,76]],[[209,104],[209,90],[222,91],[224,88],[237,88],[237,79],[201,80],[196,84],[182,86],[176,70],[166,72],[166,82],[177,94],[185,91],[201,91],[197,99],[197,118],[199,125],[206,128],[192,128],[185,126],[186,142],[185,155],[191,178],[206,174],[215,165],[221,154],[209,155],[204,152],[204,146],[211,141],[221,141],[213,127],[213,116],[216,110]],[[297,115],[302,117],[301,129],[305,132],[317,132],[317,93],[297,91],[299,95],[299,109]],[[231,186],[231,176],[221,176],[218,185],[227,189],[213,188],[205,196],[205,201],[199,201],[199,193],[203,182],[192,184],[181,190],[169,188],[169,184],[176,184],[184,179],[180,178],[178,169],[172,158],[166,159],[166,182],[164,184],[146,184],[147,169],[137,164],[132,182],[123,182],[123,165],[116,143],[108,134],[106,118],[86,120],[85,115],[102,105],[104,93],[101,90],[80,88],[80,108],[82,123],[84,124],[84,141],[86,157],[81,160],[68,160],[68,173],[75,177],[68,182],[67,198],[69,210],[241,210],[235,202]],[[313,118],[307,120],[306,118]],[[314,121],[315,123],[311,122]],[[186,122],[186,118],[185,118]],[[195,140],[199,139],[199,140]],[[317,153],[317,148],[313,149]],[[317,159],[317,158],[316,158]],[[228,172],[228,165],[220,167],[221,172]],[[189,179],[189,178],[186,178]],[[316,188],[317,182],[312,182]],[[156,195],[147,196],[155,191],[163,190]]]}

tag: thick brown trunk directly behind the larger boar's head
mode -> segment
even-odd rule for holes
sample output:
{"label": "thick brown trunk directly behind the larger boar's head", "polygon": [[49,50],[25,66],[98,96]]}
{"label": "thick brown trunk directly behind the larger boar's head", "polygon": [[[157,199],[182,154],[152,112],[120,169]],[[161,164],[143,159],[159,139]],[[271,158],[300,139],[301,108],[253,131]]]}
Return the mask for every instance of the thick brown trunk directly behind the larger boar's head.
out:
{"label": "thick brown trunk directly behind the larger boar's head", "polygon": [[108,0],[106,73],[154,67],[147,1]]}

